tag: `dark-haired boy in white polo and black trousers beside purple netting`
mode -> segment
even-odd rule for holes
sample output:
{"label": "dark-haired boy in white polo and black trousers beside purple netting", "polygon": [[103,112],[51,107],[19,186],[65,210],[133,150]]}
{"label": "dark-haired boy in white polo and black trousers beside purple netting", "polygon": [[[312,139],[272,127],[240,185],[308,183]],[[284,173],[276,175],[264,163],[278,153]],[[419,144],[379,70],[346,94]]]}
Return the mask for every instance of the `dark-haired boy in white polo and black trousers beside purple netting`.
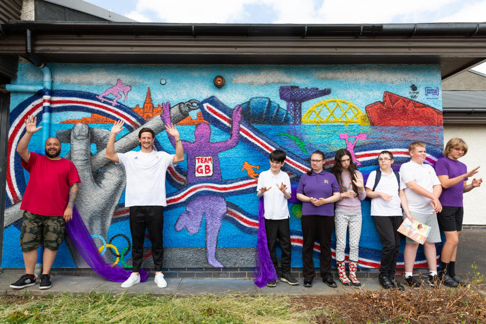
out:
{"label": "dark-haired boy in white polo and black trousers beside purple netting", "polygon": [[[289,285],[299,285],[299,281],[290,273],[292,246],[287,199],[290,198],[291,187],[289,175],[280,170],[285,164],[286,157],[287,154],[282,150],[274,150],[270,153],[270,169],[263,171],[258,176],[257,197],[263,196],[267,245],[275,269],[277,268],[277,256],[275,254],[277,238],[280,242],[282,250],[280,281],[287,282]],[[267,283],[268,287],[275,287],[276,285],[277,280],[271,280]]]}

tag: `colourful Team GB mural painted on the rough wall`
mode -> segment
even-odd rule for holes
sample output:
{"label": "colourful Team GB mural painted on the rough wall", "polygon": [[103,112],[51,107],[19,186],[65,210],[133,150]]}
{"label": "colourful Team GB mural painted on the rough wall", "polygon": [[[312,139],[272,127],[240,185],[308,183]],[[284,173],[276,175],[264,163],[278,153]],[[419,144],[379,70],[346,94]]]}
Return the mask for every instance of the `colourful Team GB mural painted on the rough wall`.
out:
{"label": "colourful Team GB mural painted on the rough wall", "polygon": [[[416,140],[427,144],[426,163],[433,165],[441,157],[441,97],[423,103],[426,87],[440,87],[437,66],[49,67],[54,81],[51,135],[60,139],[61,156],[73,161],[82,180],[79,214],[100,254],[127,268],[131,235],[124,207],[125,170],[104,158],[109,129],[117,119],[126,126],[115,142],[119,152],[139,149],[137,129],[142,125],[154,130],[155,149],[169,153],[175,152],[175,143],[164,124],[177,124],[181,134],[185,160],[167,173],[165,267],[254,266],[256,185],[274,149],[287,153],[282,170],[290,176],[294,196],[316,149],[326,153],[330,168],[335,152],[347,148],[365,180],[377,169],[384,149],[395,156],[394,170],[409,160],[407,147]],[[17,84],[36,83],[39,74],[21,63]],[[221,89],[212,84],[217,74],[226,78]],[[410,91],[411,85],[416,90]],[[21,268],[19,207],[29,175],[15,149],[25,118],[42,118],[42,96],[11,98],[2,267]],[[43,146],[41,136],[34,134],[29,149],[43,152]],[[302,207],[289,203],[289,209],[292,266],[301,267]],[[359,266],[379,267],[381,244],[367,200],[362,215]],[[143,266],[151,267],[150,236],[145,237]],[[317,261],[318,241],[314,252]],[[423,252],[417,261],[417,267],[426,267]],[[54,267],[86,266],[66,238]]]}

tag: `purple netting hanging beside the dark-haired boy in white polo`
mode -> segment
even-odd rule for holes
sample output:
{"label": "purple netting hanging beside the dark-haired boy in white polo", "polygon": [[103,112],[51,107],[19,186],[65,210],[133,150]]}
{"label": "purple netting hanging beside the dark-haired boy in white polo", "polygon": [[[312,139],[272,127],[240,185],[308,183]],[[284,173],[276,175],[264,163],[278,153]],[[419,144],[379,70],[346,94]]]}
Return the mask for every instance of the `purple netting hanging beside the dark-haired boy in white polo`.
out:
{"label": "purple netting hanging beside the dark-haired boy in white polo", "polygon": [[255,279],[253,280],[259,288],[265,286],[268,281],[277,280],[277,273],[268,251],[265,218],[263,215],[263,197],[261,197],[258,203],[258,246],[255,251]]}

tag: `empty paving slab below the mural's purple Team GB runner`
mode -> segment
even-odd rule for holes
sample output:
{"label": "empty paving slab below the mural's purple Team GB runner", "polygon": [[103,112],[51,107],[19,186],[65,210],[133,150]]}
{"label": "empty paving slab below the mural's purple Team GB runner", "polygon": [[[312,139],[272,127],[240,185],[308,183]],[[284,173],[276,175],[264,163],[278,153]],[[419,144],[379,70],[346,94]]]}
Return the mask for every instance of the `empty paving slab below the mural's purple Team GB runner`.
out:
{"label": "empty paving slab below the mural's purple Team GB runner", "polygon": [[178,295],[252,295],[256,294],[253,279],[182,279]]}

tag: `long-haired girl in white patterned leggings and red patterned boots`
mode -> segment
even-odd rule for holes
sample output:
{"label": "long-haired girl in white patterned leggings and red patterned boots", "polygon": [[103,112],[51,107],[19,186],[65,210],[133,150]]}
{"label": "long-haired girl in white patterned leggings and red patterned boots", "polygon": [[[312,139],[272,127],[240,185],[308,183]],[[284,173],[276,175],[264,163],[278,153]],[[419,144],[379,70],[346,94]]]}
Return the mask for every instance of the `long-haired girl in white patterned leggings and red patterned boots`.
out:
{"label": "long-haired girl in white patterned leggings and red patterned boots", "polygon": [[[356,278],[358,265],[359,237],[361,236],[361,200],[366,198],[363,176],[358,171],[351,158],[351,153],[345,148],[336,152],[333,174],[341,189],[340,200],[336,201],[334,221],[336,224],[336,264],[339,280],[343,285],[361,286]],[[344,249],[346,248],[346,232],[349,228],[349,278],[346,276]],[[349,280],[351,279],[351,280]]]}

